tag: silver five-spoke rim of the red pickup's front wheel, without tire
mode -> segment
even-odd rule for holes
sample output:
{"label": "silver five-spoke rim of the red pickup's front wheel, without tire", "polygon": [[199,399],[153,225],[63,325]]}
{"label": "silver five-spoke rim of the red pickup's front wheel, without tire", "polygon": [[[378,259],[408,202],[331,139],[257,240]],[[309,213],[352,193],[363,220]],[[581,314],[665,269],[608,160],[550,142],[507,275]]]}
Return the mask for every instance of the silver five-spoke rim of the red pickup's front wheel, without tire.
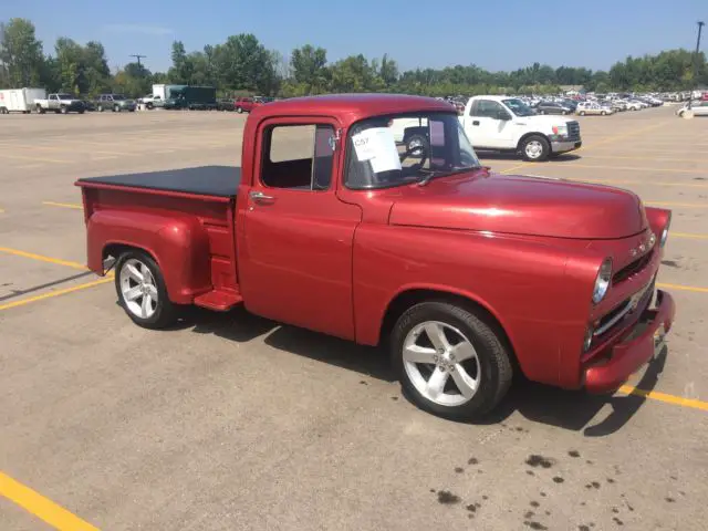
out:
{"label": "silver five-spoke rim of the red pickup's front wheel, without tire", "polygon": [[439,321],[423,322],[408,332],[403,364],[416,391],[441,406],[466,404],[479,388],[475,346],[458,329]]}

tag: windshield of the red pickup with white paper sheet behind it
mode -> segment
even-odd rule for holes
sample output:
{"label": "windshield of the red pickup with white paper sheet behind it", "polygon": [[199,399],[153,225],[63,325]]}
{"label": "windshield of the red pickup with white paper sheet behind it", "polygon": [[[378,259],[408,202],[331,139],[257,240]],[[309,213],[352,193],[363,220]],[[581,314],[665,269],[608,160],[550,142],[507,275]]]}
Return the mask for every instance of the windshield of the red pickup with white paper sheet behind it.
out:
{"label": "windshield of the red pickup with white paper sheet behind it", "polygon": [[480,167],[456,113],[377,116],[347,136],[344,178],[351,189],[389,188]]}

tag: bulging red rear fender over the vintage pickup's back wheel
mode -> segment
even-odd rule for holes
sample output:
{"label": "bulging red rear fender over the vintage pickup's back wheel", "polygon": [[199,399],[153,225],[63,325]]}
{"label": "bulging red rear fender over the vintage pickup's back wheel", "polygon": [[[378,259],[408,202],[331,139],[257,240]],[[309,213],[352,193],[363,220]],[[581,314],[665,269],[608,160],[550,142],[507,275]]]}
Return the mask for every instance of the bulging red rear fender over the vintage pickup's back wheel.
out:
{"label": "bulging red rear fender over the vintage pickup's back wheel", "polygon": [[86,233],[88,269],[100,275],[105,274],[103,261],[112,248],[133,248],[155,259],[174,303],[189,304],[212,289],[209,238],[195,217],[97,210],[88,218]]}

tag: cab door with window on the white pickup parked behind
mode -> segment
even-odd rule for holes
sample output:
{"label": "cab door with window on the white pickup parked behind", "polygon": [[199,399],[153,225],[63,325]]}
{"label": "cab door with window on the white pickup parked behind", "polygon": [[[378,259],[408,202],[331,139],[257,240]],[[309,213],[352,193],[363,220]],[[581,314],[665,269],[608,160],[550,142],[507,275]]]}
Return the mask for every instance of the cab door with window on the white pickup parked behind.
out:
{"label": "cab door with window on the white pickup parked behind", "polygon": [[[503,118],[503,119],[502,119]],[[476,100],[465,117],[465,133],[473,148],[510,149],[513,142],[513,116],[500,103]]]}

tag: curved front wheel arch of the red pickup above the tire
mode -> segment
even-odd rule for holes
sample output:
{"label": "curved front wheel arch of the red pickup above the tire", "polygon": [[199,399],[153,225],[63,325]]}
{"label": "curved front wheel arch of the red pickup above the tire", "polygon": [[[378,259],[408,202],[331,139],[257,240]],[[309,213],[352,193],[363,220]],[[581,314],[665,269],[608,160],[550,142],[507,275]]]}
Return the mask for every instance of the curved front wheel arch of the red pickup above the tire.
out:
{"label": "curved front wheel arch of the red pickup above the tire", "polygon": [[479,298],[447,287],[407,287],[396,293],[384,311],[378,334],[378,344],[382,345],[388,342],[388,337],[396,322],[409,308],[421,302],[433,301],[447,302],[467,310],[472,310],[479,319],[485,321],[485,323],[499,335],[500,341],[508,347],[514,371],[521,368],[513,341],[498,312]]}

